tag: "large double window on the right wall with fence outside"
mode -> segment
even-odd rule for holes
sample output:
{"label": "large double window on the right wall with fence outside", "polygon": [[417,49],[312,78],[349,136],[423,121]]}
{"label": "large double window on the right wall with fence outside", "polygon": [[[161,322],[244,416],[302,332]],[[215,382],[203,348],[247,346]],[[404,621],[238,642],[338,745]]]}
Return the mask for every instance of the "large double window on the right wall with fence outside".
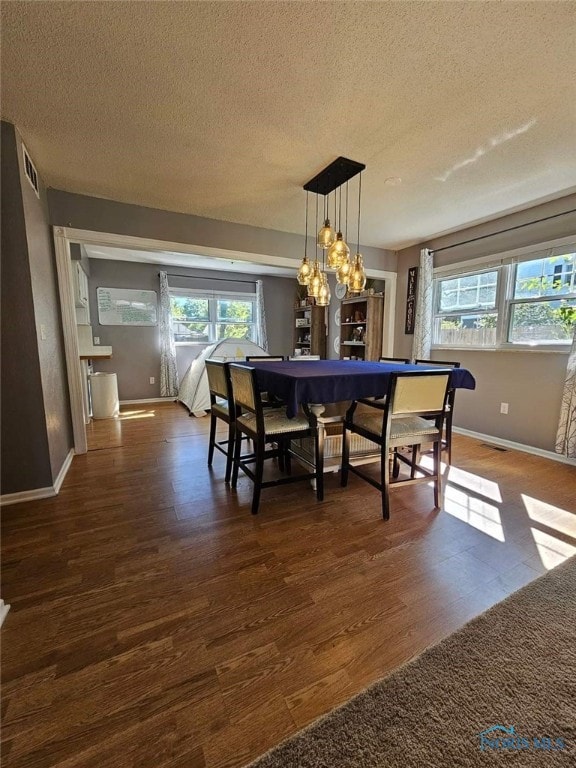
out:
{"label": "large double window on the right wall with fence outside", "polygon": [[505,348],[572,339],[576,252],[441,276],[434,283],[436,346]]}

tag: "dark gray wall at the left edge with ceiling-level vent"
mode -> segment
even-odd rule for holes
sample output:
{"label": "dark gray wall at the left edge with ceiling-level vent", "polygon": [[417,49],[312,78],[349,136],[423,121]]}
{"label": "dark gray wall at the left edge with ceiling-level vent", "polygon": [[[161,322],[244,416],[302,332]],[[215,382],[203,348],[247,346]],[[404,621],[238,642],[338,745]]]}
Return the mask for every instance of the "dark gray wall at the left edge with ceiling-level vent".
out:
{"label": "dark gray wall at the left edge with ceiling-level vent", "polygon": [[72,447],[68,401],[46,193],[2,122],[2,494],[53,484]]}

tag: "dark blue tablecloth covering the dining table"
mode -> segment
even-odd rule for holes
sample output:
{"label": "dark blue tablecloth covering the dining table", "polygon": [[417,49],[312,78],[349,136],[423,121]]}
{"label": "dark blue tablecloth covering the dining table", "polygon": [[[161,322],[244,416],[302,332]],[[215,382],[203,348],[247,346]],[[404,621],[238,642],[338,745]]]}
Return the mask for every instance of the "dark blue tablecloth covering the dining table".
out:
{"label": "dark blue tablecloth covering the dining table", "polygon": [[[306,403],[339,403],[359,397],[382,397],[394,371],[422,371],[438,366],[402,363],[364,362],[363,360],[290,360],[247,363],[256,371],[260,390],[281,398],[292,418]],[[455,389],[475,389],[476,381],[466,368],[453,368],[450,380]]]}

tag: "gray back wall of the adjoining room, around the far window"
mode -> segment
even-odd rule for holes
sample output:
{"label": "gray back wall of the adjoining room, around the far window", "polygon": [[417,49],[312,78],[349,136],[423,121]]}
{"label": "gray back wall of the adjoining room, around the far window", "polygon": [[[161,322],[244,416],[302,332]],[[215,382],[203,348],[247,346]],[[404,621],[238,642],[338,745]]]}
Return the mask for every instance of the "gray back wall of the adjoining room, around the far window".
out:
{"label": "gray back wall of the adjoining room, around the far window", "polygon": [[[118,393],[121,400],[140,400],[160,396],[160,336],[158,326],[100,325],[96,289],[138,288],[156,291],[158,272],[165,270],[169,283],[174,287],[204,288],[214,290],[254,290],[250,275],[234,272],[210,272],[183,267],[159,267],[155,264],[137,264],[127,261],[90,259],[90,316],[92,333],[100,337],[101,345],[112,347],[110,360],[93,364],[95,371],[114,372],[118,375]],[[170,277],[172,275],[172,277]],[[178,275],[179,277],[176,277]],[[185,276],[185,277],[182,277]],[[223,278],[230,282],[223,282]],[[214,279],[216,278],[216,279]],[[292,348],[292,307],[295,297],[295,281],[283,277],[262,276],[264,308],[268,332],[268,348],[271,353],[287,355]],[[247,284],[246,281],[250,284]],[[190,362],[205,345],[177,347],[178,372],[182,377]],[[155,384],[150,384],[150,377]]]}

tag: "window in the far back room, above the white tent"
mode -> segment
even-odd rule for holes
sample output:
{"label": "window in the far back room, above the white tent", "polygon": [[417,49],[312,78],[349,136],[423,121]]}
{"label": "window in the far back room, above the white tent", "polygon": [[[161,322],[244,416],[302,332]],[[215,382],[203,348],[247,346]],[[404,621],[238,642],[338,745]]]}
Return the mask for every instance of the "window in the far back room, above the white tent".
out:
{"label": "window in the far back room, above the white tent", "polygon": [[213,344],[221,339],[256,341],[256,295],[170,291],[174,341]]}

